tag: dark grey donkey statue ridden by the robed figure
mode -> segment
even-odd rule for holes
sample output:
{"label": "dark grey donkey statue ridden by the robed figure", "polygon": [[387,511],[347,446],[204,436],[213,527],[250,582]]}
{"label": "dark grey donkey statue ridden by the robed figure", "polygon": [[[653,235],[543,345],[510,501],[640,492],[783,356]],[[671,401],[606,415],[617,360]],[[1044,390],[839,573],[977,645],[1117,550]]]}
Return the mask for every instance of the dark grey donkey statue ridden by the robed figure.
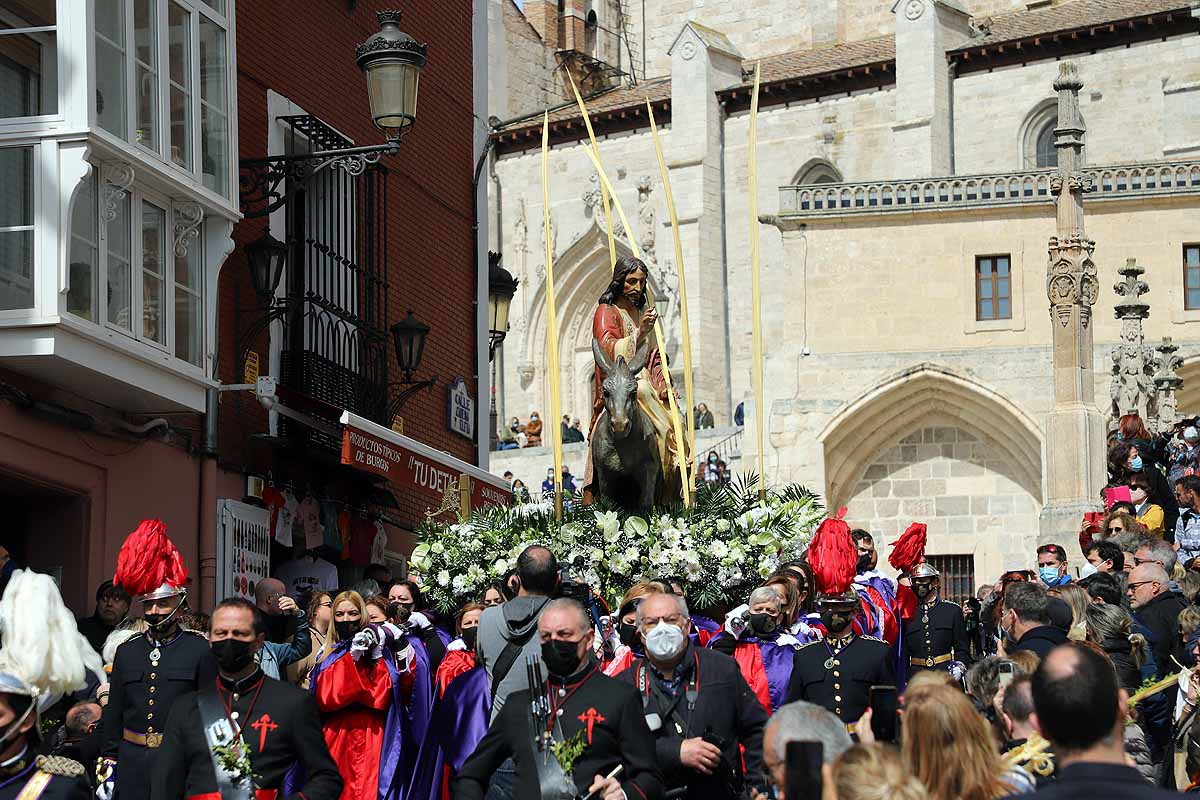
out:
{"label": "dark grey donkey statue ridden by the robed figure", "polygon": [[626,511],[648,511],[662,488],[662,459],[654,426],[637,404],[637,373],[649,359],[649,341],[625,363],[613,363],[604,348],[592,341],[592,355],[604,380],[604,413],[592,432],[592,471],[596,494]]}

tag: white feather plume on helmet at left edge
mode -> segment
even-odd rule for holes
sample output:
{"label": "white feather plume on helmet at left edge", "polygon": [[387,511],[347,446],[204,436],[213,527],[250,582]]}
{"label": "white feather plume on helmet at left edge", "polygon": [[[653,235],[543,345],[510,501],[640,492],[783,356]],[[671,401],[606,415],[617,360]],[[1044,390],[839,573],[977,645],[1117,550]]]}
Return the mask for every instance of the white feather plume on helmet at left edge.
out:
{"label": "white feather plume on helmet at left edge", "polygon": [[42,694],[82,688],[86,669],[103,680],[100,655],[76,627],[48,575],[17,570],[0,599],[0,672]]}

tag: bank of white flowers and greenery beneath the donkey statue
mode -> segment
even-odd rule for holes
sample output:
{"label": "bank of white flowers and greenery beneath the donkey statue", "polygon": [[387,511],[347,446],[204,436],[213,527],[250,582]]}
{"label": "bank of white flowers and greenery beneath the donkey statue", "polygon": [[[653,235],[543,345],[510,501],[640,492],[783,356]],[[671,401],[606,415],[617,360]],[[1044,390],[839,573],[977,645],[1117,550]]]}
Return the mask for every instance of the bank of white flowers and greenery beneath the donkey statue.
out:
{"label": "bank of white flowers and greenery beneath the donkey statue", "polygon": [[493,506],[467,522],[422,525],[412,565],[436,576],[426,596],[443,612],[478,600],[534,543],[550,547],[574,579],[605,600],[640,579],[678,576],[696,607],[704,608],[743,596],[749,582],[797,558],[822,516],[808,489],[788,486],[763,500],[752,477],[702,487],[691,509],[648,515],[572,504],[557,522],[546,503]]}

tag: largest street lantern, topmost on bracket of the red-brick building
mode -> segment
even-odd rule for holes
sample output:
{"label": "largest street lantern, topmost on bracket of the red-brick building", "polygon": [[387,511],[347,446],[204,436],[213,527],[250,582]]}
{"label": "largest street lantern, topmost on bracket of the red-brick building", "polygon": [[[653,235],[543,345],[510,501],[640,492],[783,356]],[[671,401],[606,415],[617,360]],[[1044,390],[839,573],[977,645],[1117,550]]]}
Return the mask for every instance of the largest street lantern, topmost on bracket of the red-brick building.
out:
{"label": "largest street lantern, topmost on bracket of the red-brick building", "polygon": [[389,142],[397,142],[416,121],[416,89],[425,66],[426,46],[400,30],[398,11],[376,14],[380,30],[355,50],[367,78],[371,116]]}

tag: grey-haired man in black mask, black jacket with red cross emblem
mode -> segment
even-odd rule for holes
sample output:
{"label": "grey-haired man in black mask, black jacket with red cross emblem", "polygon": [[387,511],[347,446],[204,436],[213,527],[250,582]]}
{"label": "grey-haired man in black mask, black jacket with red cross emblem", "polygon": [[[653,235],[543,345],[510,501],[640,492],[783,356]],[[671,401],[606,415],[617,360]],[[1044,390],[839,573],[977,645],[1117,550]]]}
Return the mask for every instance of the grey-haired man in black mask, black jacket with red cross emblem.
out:
{"label": "grey-haired man in black mask, black jacket with red cross emblem", "polygon": [[[596,800],[656,800],[662,783],[642,702],[632,686],[601,674],[592,660],[593,631],[587,612],[574,600],[552,600],[538,620],[538,636],[550,672],[546,729],[554,741],[565,745],[560,752],[574,751],[575,757],[560,758],[539,750],[535,742],[545,730],[534,729],[530,692],[516,691],[458,771],[451,796],[482,800],[492,772],[512,758],[516,798],[546,798],[541,786],[557,780],[563,796],[594,792]],[[607,777],[618,765],[623,768],[619,777]],[[568,781],[574,781],[574,790],[565,790],[562,776],[547,778],[547,769],[559,768],[568,774]]]}

